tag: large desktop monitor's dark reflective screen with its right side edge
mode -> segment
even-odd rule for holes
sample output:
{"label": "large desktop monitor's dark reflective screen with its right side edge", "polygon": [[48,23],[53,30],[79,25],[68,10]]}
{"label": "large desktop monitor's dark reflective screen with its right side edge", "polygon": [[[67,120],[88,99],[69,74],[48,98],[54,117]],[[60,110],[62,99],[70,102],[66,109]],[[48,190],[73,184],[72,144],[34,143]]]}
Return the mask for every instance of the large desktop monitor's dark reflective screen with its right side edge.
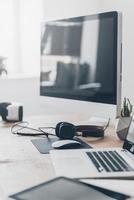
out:
{"label": "large desktop monitor's dark reflective screen with its right side edge", "polygon": [[40,95],[121,105],[121,14],[42,23]]}

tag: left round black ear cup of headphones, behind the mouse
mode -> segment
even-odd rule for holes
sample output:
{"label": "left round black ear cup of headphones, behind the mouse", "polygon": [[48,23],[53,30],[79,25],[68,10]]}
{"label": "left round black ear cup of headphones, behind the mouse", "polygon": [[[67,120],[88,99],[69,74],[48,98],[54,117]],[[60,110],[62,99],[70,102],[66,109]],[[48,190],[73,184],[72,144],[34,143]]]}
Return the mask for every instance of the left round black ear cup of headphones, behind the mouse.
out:
{"label": "left round black ear cup of headphones, behind the mouse", "polygon": [[72,139],[75,136],[76,127],[68,122],[59,122],[56,125],[56,135],[61,139]]}

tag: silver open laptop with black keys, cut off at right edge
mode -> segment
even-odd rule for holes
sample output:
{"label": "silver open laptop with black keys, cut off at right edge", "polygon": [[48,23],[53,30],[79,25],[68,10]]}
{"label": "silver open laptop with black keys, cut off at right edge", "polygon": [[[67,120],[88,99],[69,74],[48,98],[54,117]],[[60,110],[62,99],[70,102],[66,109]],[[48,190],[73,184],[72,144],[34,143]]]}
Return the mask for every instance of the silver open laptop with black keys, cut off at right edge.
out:
{"label": "silver open laptop with black keys, cut off at right edge", "polygon": [[134,179],[134,123],[122,148],[52,150],[57,176]]}

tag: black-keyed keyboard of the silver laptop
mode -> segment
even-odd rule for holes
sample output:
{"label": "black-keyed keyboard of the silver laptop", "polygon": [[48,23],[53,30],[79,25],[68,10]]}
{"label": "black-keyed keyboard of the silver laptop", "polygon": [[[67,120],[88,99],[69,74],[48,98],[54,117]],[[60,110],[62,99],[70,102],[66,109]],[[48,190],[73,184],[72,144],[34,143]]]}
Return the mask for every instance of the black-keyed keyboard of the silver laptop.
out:
{"label": "black-keyed keyboard of the silver laptop", "polygon": [[134,171],[117,151],[86,152],[99,172]]}

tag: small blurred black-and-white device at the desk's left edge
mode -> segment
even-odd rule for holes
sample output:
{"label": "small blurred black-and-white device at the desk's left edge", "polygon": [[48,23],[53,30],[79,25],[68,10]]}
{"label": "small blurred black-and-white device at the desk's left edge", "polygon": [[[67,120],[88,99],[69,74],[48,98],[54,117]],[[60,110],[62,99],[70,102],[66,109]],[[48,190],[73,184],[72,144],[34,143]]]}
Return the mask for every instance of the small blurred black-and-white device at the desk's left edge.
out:
{"label": "small blurred black-and-white device at the desk's left edge", "polygon": [[0,115],[3,121],[18,122],[23,118],[23,107],[19,103],[0,103]]}

